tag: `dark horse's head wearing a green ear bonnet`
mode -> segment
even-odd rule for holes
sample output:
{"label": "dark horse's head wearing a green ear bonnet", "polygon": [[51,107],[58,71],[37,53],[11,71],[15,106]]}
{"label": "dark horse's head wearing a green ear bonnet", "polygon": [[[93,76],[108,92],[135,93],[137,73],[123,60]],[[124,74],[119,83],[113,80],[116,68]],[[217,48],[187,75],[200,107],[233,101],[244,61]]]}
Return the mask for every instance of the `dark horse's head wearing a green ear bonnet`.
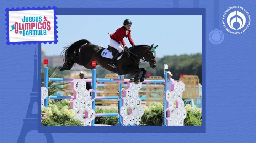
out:
{"label": "dark horse's head wearing a green ear bonnet", "polygon": [[156,47],[158,45],[156,45],[154,47],[154,44],[152,44],[149,48],[148,48],[148,51],[146,52],[146,55],[144,56],[145,58],[145,61],[149,63],[150,65],[150,68],[155,68],[156,67],[156,60],[155,60],[155,57],[156,57]]}

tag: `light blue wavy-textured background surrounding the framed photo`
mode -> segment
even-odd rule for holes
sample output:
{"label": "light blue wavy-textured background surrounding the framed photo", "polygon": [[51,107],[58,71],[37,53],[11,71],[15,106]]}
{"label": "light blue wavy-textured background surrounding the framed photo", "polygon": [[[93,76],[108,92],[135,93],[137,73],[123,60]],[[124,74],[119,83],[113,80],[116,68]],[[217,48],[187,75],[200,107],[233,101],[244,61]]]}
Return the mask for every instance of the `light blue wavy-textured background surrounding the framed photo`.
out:
{"label": "light blue wavy-textured background surrounding the framed photo", "polygon": [[[176,2],[177,0],[175,0]],[[26,116],[33,85],[34,53],[37,45],[6,45],[5,8],[11,7],[174,7],[172,0],[141,1],[1,1],[0,6],[0,142],[17,142]],[[177,4],[177,3],[176,3]],[[212,44],[213,0],[199,0],[206,8],[206,133],[52,133],[55,142],[254,142],[256,1],[220,1],[219,27],[224,41]],[[181,0],[179,7],[193,7],[193,0]],[[223,29],[220,18],[231,6],[249,11],[251,25],[240,35]],[[177,5],[175,5],[177,7]],[[58,34],[57,34],[58,35]],[[37,107],[35,105],[34,107]],[[37,108],[33,108],[37,112]],[[133,138],[131,138],[133,137]],[[126,141],[126,142],[127,142]],[[46,142],[43,133],[29,132],[25,142]]]}

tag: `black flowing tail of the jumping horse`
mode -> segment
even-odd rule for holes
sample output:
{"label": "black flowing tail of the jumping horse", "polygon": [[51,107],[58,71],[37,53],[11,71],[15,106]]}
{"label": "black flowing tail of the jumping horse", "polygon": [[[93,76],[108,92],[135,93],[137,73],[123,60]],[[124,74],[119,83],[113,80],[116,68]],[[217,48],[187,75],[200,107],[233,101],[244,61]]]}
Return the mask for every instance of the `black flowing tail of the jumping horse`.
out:
{"label": "black flowing tail of the jumping horse", "polygon": [[61,52],[64,64],[66,62],[68,62],[68,57],[70,56],[70,54],[79,55],[80,48],[82,47],[82,45],[84,45],[86,43],[89,44],[91,42],[86,39],[82,39],[82,40],[74,42],[73,44],[71,44],[67,47],[64,47],[64,50]]}

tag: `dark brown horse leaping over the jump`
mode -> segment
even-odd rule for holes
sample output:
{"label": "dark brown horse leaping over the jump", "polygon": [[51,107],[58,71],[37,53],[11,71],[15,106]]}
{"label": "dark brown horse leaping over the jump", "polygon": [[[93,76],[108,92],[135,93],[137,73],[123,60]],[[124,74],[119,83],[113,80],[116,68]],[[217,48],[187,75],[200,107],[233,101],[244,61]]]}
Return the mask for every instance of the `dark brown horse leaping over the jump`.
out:
{"label": "dark brown horse leaping over the jump", "polygon": [[[158,46],[158,45],[157,45]],[[122,57],[116,61],[116,68],[108,65],[111,59],[101,56],[103,47],[92,44],[90,41],[82,39],[74,42],[73,44],[66,46],[62,51],[62,56],[64,59],[64,64],[58,69],[60,71],[70,70],[74,63],[84,66],[87,69],[94,69],[91,62],[96,61],[96,65],[111,71],[112,73],[117,73],[119,75],[135,75],[134,78],[130,79],[129,82],[134,82],[139,84],[145,80],[146,68],[140,68],[140,59],[148,62],[150,68],[156,67],[155,60],[155,49],[154,44],[149,45],[136,45],[127,51],[121,52]],[[141,78],[139,79],[140,72],[143,71]]]}

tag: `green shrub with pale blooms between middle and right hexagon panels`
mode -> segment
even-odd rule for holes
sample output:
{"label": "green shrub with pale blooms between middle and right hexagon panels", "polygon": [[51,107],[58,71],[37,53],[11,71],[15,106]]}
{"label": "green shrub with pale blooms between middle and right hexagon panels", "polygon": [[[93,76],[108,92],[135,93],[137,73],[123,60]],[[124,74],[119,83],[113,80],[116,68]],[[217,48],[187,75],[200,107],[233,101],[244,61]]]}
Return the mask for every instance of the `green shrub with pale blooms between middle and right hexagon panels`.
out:
{"label": "green shrub with pale blooms between middle and right hexagon panels", "polygon": [[160,126],[162,125],[163,105],[153,102],[150,107],[144,107],[144,115],[141,118],[141,125]]}

